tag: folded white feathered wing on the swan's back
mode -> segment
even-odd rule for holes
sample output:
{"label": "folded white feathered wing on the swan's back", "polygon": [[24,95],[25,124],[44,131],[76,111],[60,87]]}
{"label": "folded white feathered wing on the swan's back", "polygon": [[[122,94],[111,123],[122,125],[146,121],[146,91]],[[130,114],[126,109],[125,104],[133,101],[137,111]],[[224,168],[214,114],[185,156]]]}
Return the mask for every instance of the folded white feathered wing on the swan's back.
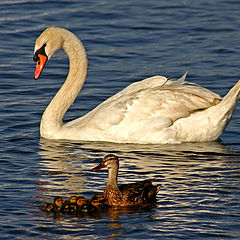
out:
{"label": "folded white feathered wing on the swan's back", "polygon": [[107,130],[121,124],[134,128],[135,124],[136,128],[148,126],[149,131],[156,131],[221,100],[205,88],[186,84],[185,76],[176,81],[155,76],[133,83],[79,119],[81,127],[87,124]]}

